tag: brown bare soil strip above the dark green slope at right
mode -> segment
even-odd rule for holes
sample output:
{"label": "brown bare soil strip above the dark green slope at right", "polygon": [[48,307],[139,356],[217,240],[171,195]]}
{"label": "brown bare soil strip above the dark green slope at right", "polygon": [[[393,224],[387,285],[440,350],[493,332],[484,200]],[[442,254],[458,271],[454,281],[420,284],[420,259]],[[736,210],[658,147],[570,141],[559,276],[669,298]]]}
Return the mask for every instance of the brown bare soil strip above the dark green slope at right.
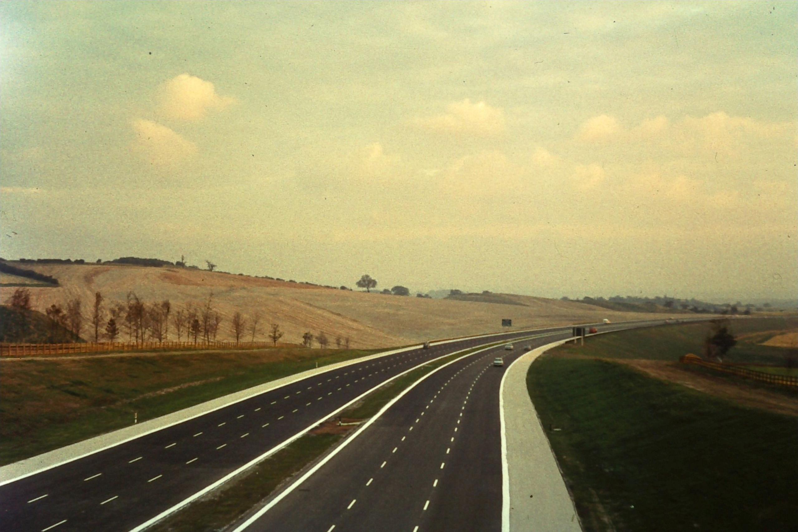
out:
{"label": "brown bare soil strip above the dark green slope at right", "polygon": [[745,381],[732,381],[720,376],[694,373],[693,371],[687,371],[678,362],[642,359],[618,359],[614,360],[614,362],[625,363],[638,371],[646,373],[646,375],[678,383],[682,386],[693,388],[693,390],[715,395],[746,407],[798,416],[798,399],[791,399],[776,392],[750,387]]}

